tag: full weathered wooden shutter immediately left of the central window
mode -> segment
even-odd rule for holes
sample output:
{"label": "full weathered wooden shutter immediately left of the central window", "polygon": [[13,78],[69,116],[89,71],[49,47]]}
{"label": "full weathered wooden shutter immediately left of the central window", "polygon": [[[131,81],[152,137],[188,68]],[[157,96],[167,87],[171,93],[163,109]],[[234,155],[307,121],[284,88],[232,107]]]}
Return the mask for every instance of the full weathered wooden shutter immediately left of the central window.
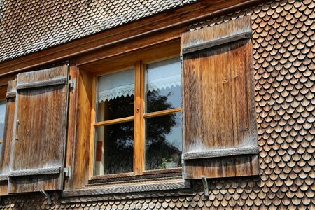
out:
{"label": "full weathered wooden shutter immediately left of the central window", "polygon": [[9,193],[62,190],[68,69],[18,74]]}

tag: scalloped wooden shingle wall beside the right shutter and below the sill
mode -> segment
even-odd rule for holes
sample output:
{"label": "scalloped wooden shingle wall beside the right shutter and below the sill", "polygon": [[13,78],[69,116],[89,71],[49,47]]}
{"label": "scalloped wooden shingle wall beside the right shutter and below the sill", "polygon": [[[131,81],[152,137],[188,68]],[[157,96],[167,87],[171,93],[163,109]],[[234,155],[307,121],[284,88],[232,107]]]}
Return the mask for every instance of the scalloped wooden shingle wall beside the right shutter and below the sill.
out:
{"label": "scalloped wooden shingle wall beside the right shutter and below the sill", "polygon": [[[260,176],[209,180],[191,192],[1,200],[3,209],[315,209],[315,0],[270,1],[197,23],[251,15]],[[125,196],[125,197],[124,197]]]}

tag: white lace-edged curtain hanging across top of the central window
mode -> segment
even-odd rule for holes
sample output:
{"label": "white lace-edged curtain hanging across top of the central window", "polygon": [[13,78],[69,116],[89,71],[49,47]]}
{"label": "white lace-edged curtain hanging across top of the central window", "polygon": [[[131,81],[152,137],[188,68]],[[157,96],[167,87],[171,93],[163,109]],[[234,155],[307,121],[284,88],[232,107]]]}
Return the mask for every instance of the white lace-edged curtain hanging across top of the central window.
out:
{"label": "white lace-edged curtain hanging across top of the central window", "polygon": [[[146,90],[181,85],[181,62],[179,57],[155,62],[146,66]],[[134,95],[134,69],[99,77],[98,101],[105,102],[117,97]]]}

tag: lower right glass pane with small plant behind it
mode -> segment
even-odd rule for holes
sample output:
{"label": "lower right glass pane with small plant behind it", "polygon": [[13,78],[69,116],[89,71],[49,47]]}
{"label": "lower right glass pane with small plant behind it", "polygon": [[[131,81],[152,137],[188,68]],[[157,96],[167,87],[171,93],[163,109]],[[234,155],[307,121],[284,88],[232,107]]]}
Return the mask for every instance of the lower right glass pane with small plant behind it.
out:
{"label": "lower right glass pane with small plant behind it", "polygon": [[146,170],[181,167],[181,113],[146,119]]}

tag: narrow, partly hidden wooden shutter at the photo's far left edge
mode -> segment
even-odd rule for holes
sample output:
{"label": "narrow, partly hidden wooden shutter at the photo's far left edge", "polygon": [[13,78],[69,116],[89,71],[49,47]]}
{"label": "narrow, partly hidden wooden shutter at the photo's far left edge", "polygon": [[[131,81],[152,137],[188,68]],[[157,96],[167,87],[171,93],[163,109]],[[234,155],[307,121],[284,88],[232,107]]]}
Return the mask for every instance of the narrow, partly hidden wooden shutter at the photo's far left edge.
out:
{"label": "narrow, partly hidden wooden shutter at the photo's far left edge", "polygon": [[3,143],[0,160],[0,195],[8,194],[8,172],[13,140],[13,124],[15,113],[16,80],[8,82],[6,92],[6,116],[3,128]]}

